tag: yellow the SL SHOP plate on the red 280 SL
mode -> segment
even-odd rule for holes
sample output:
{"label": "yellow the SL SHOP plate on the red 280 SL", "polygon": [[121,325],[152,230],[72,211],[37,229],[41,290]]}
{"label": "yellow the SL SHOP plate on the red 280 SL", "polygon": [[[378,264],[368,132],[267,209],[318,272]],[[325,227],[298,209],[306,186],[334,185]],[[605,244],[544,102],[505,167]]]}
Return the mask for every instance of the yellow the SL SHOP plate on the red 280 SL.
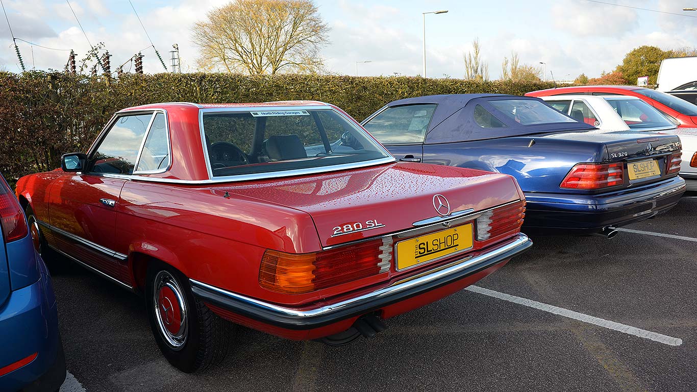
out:
{"label": "yellow the SL SHOP plate on the red 280 SL", "polygon": [[397,243],[397,271],[472,248],[472,223]]}

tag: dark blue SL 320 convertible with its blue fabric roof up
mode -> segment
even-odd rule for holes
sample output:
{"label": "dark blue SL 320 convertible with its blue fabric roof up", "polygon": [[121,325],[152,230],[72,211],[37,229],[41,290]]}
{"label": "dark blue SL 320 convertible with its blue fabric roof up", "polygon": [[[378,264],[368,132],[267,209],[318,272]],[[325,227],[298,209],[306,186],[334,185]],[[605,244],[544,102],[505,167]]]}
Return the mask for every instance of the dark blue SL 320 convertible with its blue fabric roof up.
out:
{"label": "dark blue SL 320 convertible with its blue fabric roof up", "polygon": [[407,98],[362,125],[399,160],[514,176],[532,234],[611,237],[615,227],[668,211],[685,191],[677,136],[593,133],[593,124],[539,98]]}

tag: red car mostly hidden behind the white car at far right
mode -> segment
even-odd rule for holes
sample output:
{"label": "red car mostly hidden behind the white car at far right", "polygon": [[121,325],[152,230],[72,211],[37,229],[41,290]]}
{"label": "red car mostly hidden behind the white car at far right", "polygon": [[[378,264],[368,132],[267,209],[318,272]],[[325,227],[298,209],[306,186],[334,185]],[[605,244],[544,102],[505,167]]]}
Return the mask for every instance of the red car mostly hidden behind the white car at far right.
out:
{"label": "red car mostly hidden behind the white car at far right", "polygon": [[526,93],[531,97],[564,96],[585,94],[588,96],[633,96],[641,98],[657,110],[666,114],[678,128],[697,126],[697,105],[671,94],[638,86],[572,86],[558,87]]}

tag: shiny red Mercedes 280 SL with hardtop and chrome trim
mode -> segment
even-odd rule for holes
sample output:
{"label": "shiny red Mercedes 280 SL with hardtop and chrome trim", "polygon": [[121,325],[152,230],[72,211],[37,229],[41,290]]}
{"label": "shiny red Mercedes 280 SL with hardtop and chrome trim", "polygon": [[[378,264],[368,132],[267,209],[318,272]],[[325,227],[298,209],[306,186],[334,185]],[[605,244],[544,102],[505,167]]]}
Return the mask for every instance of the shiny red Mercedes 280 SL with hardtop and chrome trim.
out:
{"label": "shiny red Mercedes 280 SL with hardtop and chrome trim", "polygon": [[338,345],[532,245],[513,177],[395,162],[348,114],[307,101],[121,110],[17,196],[40,252],[144,294],[185,372],[222,359],[222,319]]}

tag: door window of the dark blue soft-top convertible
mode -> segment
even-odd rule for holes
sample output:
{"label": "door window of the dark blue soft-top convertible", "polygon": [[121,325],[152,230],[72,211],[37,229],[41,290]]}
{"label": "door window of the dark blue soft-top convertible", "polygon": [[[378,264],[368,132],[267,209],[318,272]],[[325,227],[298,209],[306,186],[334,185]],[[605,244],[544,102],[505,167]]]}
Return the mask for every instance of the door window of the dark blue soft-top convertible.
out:
{"label": "door window of the dark blue soft-top convertible", "polygon": [[364,128],[382,144],[423,143],[435,104],[388,107]]}

